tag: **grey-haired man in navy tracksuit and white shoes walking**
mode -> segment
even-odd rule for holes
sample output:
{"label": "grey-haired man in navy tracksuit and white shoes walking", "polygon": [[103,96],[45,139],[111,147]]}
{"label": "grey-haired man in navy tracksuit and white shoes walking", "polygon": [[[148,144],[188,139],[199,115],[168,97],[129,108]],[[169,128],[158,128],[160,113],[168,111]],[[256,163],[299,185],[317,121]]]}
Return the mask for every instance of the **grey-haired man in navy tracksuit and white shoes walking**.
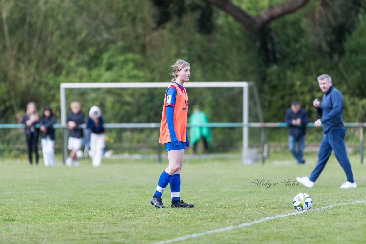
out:
{"label": "grey-haired man in navy tracksuit and white shoes walking", "polygon": [[310,177],[296,177],[296,180],[306,187],[312,188],[314,181],[317,180],[324,169],[333,150],[347,176],[347,181],[340,188],[356,188],[350,160],[347,157],[346,144],[344,143],[346,128],[344,128],[342,121],[343,97],[340,91],[332,85],[332,78],[329,75],[323,74],[318,76],[318,82],[320,89],[324,92],[321,104],[318,99],[315,99],[313,102],[318,115],[322,116],[321,119],[314,122],[314,126],[320,127],[320,125],[323,125],[324,133],[320,143],[318,162]]}

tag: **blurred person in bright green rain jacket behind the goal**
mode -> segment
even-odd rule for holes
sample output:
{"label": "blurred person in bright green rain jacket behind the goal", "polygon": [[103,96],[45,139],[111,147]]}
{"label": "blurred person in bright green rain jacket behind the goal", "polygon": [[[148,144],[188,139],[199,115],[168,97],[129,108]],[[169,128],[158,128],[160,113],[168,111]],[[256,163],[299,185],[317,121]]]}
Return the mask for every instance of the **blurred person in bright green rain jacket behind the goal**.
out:
{"label": "blurred person in bright green rain jacket behind the goal", "polygon": [[198,108],[193,109],[193,113],[189,117],[190,128],[190,141],[193,145],[193,154],[197,153],[197,142],[202,137],[203,145],[205,146],[205,153],[208,152],[208,147],[211,145],[211,129],[210,127],[195,127],[194,124],[208,123],[207,116],[204,112]]}

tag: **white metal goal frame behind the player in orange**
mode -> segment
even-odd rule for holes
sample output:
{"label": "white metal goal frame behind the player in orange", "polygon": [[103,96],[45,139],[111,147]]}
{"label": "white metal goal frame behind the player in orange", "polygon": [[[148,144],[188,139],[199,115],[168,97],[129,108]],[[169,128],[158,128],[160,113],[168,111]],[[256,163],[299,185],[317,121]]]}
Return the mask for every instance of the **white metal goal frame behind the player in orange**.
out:
{"label": "white metal goal frame behind the player in orange", "polygon": [[[242,162],[243,164],[250,164],[253,162],[249,153],[249,87],[253,86],[254,82],[187,82],[184,83],[186,88],[195,87],[241,87],[243,89],[243,123],[239,125],[243,127],[243,149],[242,149]],[[66,89],[86,89],[86,88],[167,88],[169,82],[93,82],[93,83],[61,83],[60,84],[60,102],[61,102],[61,128],[63,128],[63,162],[67,158],[67,116],[66,116]],[[257,103],[259,101],[256,101]],[[261,121],[262,122],[262,121]],[[145,123],[146,124],[146,123]],[[150,123],[154,124],[154,123]],[[109,128],[114,128],[112,124]],[[114,124],[117,126],[117,124]],[[159,124],[160,125],[160,124]],[[238,127],[239,127],[238,126]],[[215,127],[215,126],[212,126]],[[225,126],[216,126],[225,127]]]}

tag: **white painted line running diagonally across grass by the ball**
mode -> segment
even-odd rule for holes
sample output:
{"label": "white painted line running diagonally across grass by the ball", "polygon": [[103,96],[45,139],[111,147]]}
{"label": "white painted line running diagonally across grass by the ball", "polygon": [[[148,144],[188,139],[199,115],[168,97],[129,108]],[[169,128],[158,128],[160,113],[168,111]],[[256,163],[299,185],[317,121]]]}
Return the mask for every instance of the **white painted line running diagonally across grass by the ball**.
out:
{"label": "white painted line running diagonally across grass by the ball", "polygon": [[213,233],[217,233],[217,232],[223,232],[223,231],[232,230],[232,229],[236,229],[236,228],[251,226],[251,225],[261,223],[261,222],[265,222],[265,221],[271,220],[271,219],[283,218],[283,217],[287,217],[287,216],[290,216],[290,215],[302,214],[302,213],[306,213],[306,212],[310,212],[310,211],[322,211],[322,210],[331,209],[332,207],[336,207],[336,206],[342,206],[342,205],[347,205],[347,204],[357,204],[357,203],[364,203],[364,202],[366,202],[366,200],[361,200],[361,201],[356,201],[356,202],[348,202],[348,203],[337,203],[337,204],[332,204],[332,205],[329,205],[329,206],[321,207],[320,209],[314,209],[314,210],[309,210],[309,211],[296,211],[296,212],[292,212],[292,213],[289,213],[289,214],[279,214],[279,215],[275,215],[275,216],[272,216],[272,217],[265,217],[265,218],[262,218],[262,219],[258,219],[258,220],[255,220],[255,221],[252,221],[252,222],[249,222],[249,223],[243,223],[243,224],[236,225],[236,226],[228,226],[228,227],[220,228],[220,229],[216,229],[216,230],[209,230],[207,232],[189,234],[189,235],[178,237],[178,238],[171,239],[171,240],[159,241],[156,244],[169,243],[169,242],[173,242],[173,241],[184,241],[184,240],[187,240],[187,239],[196,238],[196,237],[204,236],[204,235],[207,235],[207,234],[213,234]]}

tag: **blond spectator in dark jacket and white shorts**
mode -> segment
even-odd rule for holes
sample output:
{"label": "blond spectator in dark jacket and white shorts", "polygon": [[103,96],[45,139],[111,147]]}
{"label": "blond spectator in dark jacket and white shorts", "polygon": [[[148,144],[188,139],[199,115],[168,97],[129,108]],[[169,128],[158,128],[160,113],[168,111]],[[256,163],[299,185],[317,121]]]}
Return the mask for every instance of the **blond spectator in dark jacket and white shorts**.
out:
{"label": "blond spectator in dark jacket and white shorts", "polygon": [[77,128],[78,125],[85,123],[85,115],[81,111],[79,102],[71,103],[71,113],[67,119],[67,125],[70,129],[70,136],[68,140],[68,149],[71,150],[70,157],[66,159],[66,165],[71,166],[74,161],[75,166],[79,166],[79,159],[76,152],[81,149],[83,144],[83,129]]}

